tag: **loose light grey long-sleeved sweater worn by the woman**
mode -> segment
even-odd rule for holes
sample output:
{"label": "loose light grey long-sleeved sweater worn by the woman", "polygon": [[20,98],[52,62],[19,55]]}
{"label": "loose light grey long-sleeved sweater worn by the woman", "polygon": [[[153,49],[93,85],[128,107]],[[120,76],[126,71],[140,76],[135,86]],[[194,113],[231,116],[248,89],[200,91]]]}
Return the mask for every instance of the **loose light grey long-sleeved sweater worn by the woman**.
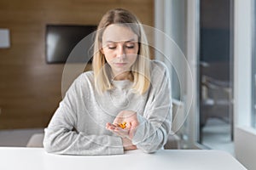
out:
{"label": "loose light grey long-sleeved sweater worn by the woman", "polygon": [[171,85],[163,63],[151,61],[150,71],[150,88],[143,95],[132,93],[129,80],[113,81],[115,88],[97,94],[93,71],[81,74],[44,130],[44,149],[67,155],[123,154],[122,139],[105,126],[119,111],[136,111],[139,126],[132,144],[146,153],[159,150],[171,130]]}

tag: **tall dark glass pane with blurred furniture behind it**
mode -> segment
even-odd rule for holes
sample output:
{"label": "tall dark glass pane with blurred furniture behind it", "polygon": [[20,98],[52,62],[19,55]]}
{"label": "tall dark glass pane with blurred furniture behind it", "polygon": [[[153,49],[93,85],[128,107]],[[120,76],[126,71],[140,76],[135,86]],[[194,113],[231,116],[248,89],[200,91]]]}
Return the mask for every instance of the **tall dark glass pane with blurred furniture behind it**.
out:
{"label": "tall dark glass pane with blurred furniture behind it", "polygon": [[201,0],[200,6],[199,143],[232,153],[233,0]]}

